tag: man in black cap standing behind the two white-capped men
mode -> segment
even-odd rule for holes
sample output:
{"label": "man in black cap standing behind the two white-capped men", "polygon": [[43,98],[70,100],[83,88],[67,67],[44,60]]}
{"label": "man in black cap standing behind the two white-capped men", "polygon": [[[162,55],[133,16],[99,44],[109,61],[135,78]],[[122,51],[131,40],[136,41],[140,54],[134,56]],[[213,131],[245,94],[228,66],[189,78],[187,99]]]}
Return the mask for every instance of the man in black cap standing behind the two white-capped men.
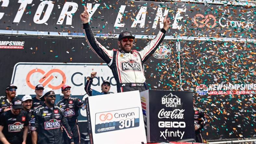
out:
{"label": "man in black cap standing behind the two white-capped men", "polygon": [[43,90],[44,90],[44,86],[42,84],[39,84],[35,87],[36,96],[32,98],[33,99],[33,104],[32,104],[33,110],[44,105],[45,102],[40,99],[40,97],[43,95]]}

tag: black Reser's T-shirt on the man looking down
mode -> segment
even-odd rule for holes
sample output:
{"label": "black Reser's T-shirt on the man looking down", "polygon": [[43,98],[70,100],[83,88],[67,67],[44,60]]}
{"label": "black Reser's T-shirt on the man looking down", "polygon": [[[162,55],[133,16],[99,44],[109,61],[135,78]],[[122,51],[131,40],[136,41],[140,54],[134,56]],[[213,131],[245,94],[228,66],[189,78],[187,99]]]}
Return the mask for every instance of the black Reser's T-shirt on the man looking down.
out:
{"label": "black Reser's T-shirt on the man looking down", "polygon": [[[2,132],[9,143],[21,144],[24,126],[29,125],[27,112],[21,110],[18,115],[15,115],[12,114],[11,110],[8,110],[0,115],[0,125],[4,126]],[[0,143],[2,144],[1,141]]]}

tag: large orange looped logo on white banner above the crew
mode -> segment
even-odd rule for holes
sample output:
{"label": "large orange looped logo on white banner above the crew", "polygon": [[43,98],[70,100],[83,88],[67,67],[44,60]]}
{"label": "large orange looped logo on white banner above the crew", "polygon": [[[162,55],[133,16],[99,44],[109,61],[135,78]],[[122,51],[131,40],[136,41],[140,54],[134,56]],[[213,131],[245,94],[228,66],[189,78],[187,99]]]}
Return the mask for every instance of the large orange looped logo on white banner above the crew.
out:
{"label": "large orange looped logo on white banner above the crew", "polygon": [[[64,74],[63,71],[59,70],[59,69],[52,69],[50,71],[48,71],[46,74],[45,74],[45,71],[42,70],[42,69],[32,69],[28,74],[27,74],[27,78],[26,78],[26,82],[28,84],[28,86],[31,88],[31,89],[35,89],[35,86],[31,84],[30,82],[30,77],[32,74],[34,73],[41,73],[43,76],[42,78],[38,81],[39,83],[41,83],[43,86],[46,86],[48,84],[48,87],[49,88],[52,88],[53,90],[58,90],[61,88],[61,86],[63,84],[66,83],[66,75]],[[62,82],[58,85],[58,86],[53,86],[51,84],[49,84],[51,82],[51,80],[54,78],[54,76],[52,75],[52,73],[59,73],[61,76],[62,76]],[[44,75],[45,74],[45,75]],[[45,82],[44,82],[45,81]],[[44,83],[43,83],[44,82]]]}

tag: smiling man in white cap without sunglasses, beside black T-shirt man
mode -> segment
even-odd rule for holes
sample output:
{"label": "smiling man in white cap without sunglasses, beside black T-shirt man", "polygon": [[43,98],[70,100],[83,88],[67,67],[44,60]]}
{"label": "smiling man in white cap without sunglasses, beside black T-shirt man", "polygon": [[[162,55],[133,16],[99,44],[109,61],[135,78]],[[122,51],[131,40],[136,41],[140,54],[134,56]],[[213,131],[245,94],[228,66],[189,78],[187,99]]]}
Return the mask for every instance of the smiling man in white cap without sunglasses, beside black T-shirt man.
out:
{"label": "smiling man in white cap without sunglasses, beside black T-shirt man", "polygon": [[[32,108],[32,102],[33,99],[30,95],[25,95],[22,97],[22,106],[23,109],[28,113],[29,120],[31,119],[31,115],[33,113]],[[31,125],[28,126],[28,136],[27,136],[27,142],[26,144],[32,144],[32,138],[31,138]]]}

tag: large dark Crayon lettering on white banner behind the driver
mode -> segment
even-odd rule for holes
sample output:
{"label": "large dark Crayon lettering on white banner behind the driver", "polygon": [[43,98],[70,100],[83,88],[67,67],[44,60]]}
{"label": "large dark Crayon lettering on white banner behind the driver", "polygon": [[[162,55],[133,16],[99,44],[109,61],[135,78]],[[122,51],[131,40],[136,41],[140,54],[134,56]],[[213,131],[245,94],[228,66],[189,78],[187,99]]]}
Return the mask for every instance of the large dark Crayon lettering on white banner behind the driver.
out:
{"label": "large dark Crayon lettering on white banner behind the driver", "polygon": [[[75,77],[76,79],[79,79],[79,80],[84,79],[84,84],[85,84],[86,81],[87,81],[87,76],[86,76],[86,77],[81,77],[81,76],[83,76],[83,74],[80,73],[80,72],[74,73],[74,74],[71,76],[71,82],[72,82],[72,84],[75,85],[75,86],[82,86],[82,85],[83,85],[83,82],[81,82],[81,81],[75,81],[75,80],[74,80],[74,77]],[[111,78],[109,78],[109,77],[106,77],[106,78],[105,78],[105,77],[104,77],[104,78],[103,78],[103,77],[95,77],[95,78],[93,78],[93,83],[92,83],[92,85],[93,85],[93,86],[100,86],[100,85],[102,84],[102,82],[103,82],[104,80],[106,80],[106,79],[109,80],[111,86],[116,86],[116,80],[115,80],[114,77],[111,77]]]}

